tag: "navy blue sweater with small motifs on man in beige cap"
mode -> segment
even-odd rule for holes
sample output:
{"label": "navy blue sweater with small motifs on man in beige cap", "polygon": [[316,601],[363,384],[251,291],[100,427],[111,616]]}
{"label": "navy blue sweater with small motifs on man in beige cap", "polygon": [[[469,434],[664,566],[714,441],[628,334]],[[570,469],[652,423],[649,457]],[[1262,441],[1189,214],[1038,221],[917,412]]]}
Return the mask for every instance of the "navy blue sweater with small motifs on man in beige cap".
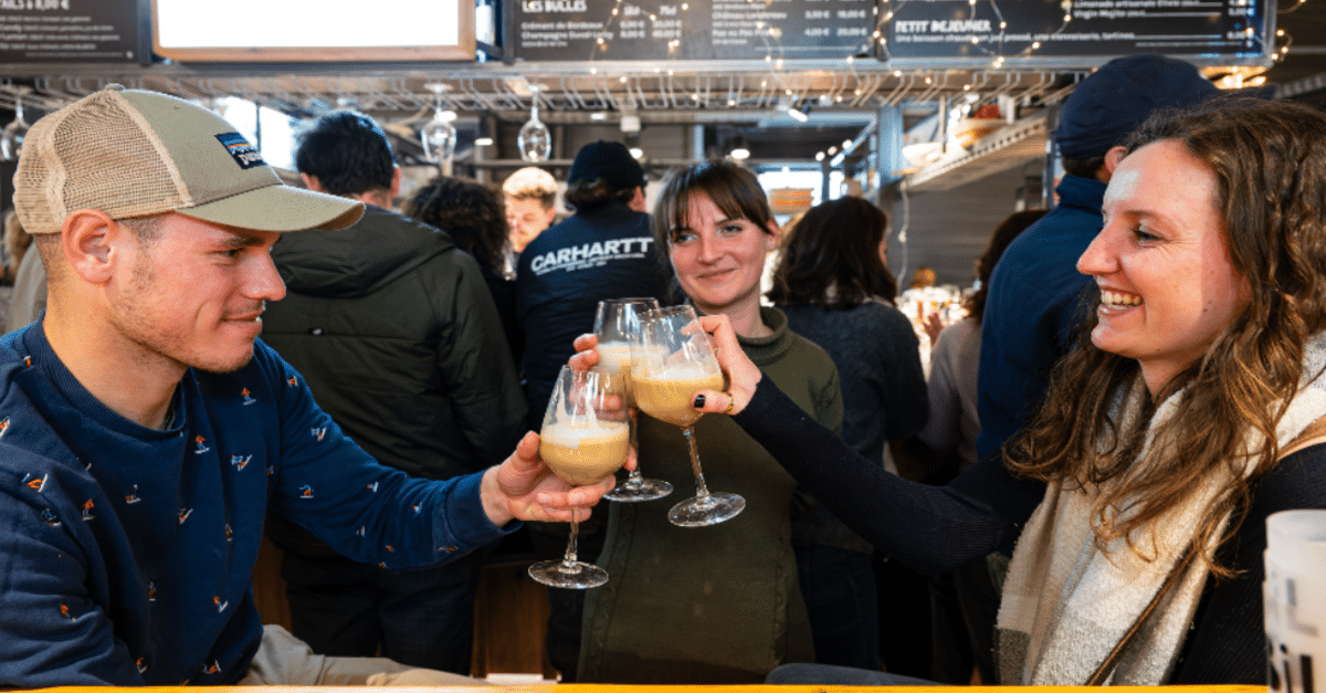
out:
{"label": "navy blue sweater with small motifs on man in beige cap", "polygon": [[187,372],[154,430],[85,390],[40,325],[0,339],[0,686],[237,681],[268,508],[386,568],[503,534],[479,474],[378,465],[263,343],[233,373]]}

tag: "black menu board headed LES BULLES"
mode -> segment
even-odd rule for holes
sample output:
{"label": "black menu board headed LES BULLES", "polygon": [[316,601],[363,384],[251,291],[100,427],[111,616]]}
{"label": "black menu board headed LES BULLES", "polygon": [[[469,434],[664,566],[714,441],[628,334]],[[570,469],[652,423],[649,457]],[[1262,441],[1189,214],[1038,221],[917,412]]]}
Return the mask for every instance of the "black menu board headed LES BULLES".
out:
{"label": "black menu board headed LES BULLES", "polygon": [[[517,0],[522,60],[841,58],[870,50],[874,0]],[[615,11],[615,12],[614,12]]]}

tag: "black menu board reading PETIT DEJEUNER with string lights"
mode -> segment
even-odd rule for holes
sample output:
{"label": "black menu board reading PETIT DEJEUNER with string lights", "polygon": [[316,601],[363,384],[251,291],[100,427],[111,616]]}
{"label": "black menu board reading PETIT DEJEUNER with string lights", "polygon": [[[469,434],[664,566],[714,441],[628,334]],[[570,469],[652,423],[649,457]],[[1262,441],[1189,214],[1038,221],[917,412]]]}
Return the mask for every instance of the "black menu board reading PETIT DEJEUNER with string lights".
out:
{"label": "black menu board reading PETIT DEJEUNER with string lights", "polygon": [[[1274,19],[1257,0],[892,1],[887,58],[1265,57]],[[1070,19],[1066,19],[1070,17]]]}

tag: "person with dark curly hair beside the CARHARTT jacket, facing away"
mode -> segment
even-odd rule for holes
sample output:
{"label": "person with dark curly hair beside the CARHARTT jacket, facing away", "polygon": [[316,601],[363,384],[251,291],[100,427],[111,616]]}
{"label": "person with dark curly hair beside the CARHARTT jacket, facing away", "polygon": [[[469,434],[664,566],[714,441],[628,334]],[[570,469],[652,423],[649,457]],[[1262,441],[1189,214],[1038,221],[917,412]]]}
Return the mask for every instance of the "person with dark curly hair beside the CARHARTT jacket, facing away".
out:
{"label": "person with dark curly hair beside the CARHARTT jacket, facing away", "polygon": [[439,175],[415,190],[404,212],[446,231],[460,250],[479,260],[518,368],[525,337],[516,321],[516,280],[504,275],[511,235],[501,196],[476,181]]}

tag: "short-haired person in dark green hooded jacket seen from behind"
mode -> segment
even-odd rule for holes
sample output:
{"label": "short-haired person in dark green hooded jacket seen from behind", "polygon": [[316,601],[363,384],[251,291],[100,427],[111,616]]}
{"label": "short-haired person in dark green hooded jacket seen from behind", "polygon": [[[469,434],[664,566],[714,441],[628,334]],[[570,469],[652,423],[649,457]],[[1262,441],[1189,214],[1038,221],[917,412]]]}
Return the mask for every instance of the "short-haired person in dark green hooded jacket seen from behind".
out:
{"label": "short-haired person in dark green hooded jacket seen from behind", "polygon": [[[322,408],[385,465],[446,479],[501,459],[524,433],[525,400],[479,263],[451,236],[390,211],[400,169],[381,126],[333,112],[298,137],[309,189],[366,203],[342,231],[282,238],[288,295],[264,340]],[[477,556],[394,574],[271,522],[285,551],[293,632],[322,654],[381,654],[469,670]]]}

